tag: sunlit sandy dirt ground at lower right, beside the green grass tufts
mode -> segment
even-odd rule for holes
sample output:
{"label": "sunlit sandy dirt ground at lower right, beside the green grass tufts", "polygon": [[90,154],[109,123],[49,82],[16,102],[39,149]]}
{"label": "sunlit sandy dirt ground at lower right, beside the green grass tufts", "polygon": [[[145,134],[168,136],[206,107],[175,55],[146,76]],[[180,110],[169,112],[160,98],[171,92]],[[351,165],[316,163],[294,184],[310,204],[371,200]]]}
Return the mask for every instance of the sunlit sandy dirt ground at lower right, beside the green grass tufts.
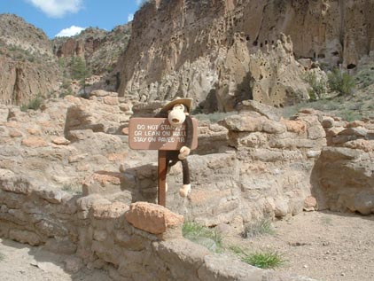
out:
{"label": "sunlit sandy dirt ground at lower right, beside the green grass tufts", "polygon": [[374,215],[304,212],[273,226],[275,235],[233,241],[249,253],[282,254],[277,270],[323,281],[374,280]]}

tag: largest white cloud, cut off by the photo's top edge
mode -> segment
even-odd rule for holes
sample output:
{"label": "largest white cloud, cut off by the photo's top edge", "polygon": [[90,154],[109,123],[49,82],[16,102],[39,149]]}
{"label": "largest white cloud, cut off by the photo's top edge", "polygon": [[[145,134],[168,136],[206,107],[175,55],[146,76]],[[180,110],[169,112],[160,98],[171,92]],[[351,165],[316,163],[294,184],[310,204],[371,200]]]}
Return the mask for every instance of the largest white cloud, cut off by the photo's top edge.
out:
{"label": "largest white cloud, cut off by the photo's top edge", "polygon": [[[83,0],[27,0],[51,18],[62,18],[66,13],[82,9]],[[136,0],[137,1],[137,0]]]}

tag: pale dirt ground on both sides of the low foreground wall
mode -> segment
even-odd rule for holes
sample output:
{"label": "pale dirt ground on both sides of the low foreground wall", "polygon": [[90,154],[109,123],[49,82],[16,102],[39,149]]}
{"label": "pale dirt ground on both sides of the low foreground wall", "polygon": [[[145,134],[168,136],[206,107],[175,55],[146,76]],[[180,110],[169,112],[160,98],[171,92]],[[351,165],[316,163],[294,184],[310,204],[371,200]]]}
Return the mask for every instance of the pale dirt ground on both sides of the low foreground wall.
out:
{"label": "pale dirt ground on both sides of the low foreground wall", "polygon": [[[274,222],[276,234],[257,238],[230,238],[255,252],[269,249],[283,254],[277,270],[323,281],[374,280],[374,215],[310,212]],[[64,270],[66,257],[0,239],[1,280],[110,280],[100,270]]]}

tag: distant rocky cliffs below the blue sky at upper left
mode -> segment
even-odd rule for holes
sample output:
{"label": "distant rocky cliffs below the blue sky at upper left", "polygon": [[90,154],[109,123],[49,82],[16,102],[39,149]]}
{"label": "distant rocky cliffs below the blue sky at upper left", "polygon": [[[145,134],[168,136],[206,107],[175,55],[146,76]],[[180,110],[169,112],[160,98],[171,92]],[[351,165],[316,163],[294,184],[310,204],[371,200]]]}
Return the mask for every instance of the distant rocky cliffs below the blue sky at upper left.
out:
{"label": "distant rocky cliffs below the blue sky at upper left", "polygon": [[[36,96],[64,94],[69,85],[70,93],[79,92],[79,83],[70,80],[73,59],[84,59],[87,74],[97,74],[86,84],[97,82],[115,68],[130,32],[128,25],[110,32],[90,27],[80,35],[51,41],[18,16],[0,14],[0,103],[27,105]],[[117,76],[105,77],[97,88],[118,88]]]}

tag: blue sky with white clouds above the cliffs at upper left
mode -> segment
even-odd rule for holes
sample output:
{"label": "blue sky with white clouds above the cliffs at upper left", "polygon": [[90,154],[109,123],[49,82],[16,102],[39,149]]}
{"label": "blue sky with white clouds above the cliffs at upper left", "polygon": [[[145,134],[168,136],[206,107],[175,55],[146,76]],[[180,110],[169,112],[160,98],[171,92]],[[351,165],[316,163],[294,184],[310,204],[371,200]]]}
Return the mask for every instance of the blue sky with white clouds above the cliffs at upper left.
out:
{"label": "blue sky with white clouds above the cliffs at upper left", "polygon": [[[112,30],[123,25],[142,0],[0,0],[0,13],[14,13],[55,35],[74,35],[85,27]],[[65,29],[65,30],[64,30]]]}

